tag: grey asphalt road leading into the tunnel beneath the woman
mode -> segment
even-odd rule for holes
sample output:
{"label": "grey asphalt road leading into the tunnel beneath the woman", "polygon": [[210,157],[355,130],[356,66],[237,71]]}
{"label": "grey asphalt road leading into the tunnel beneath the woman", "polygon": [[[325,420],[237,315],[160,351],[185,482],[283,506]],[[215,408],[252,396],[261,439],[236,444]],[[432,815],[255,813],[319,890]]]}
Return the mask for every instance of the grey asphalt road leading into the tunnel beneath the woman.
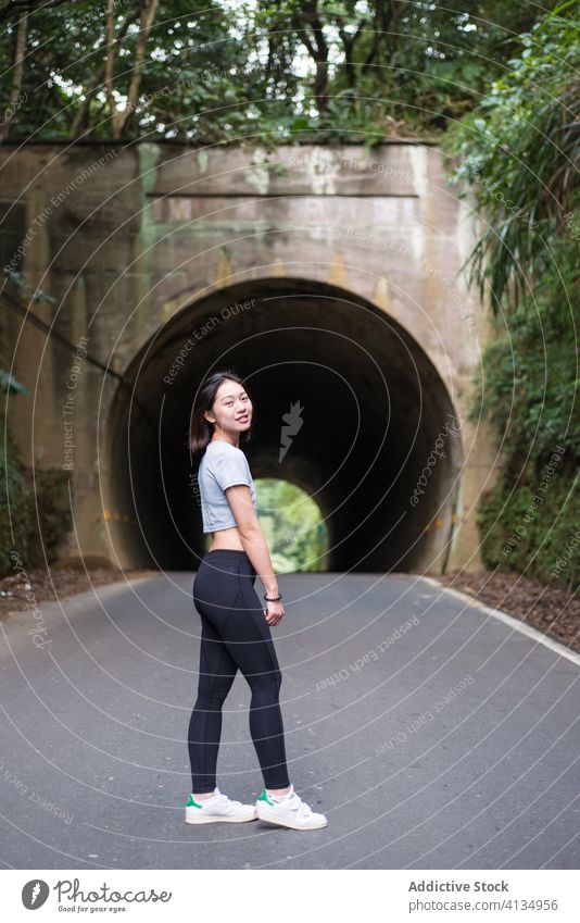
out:
{"label": "grey asphalt road leading into the tunnel beneath the woman", "polygon": [[[580,659],[413,575],[279,578],[290,776],[328,826],[185,824],[193,576],[0,624],[3,868],[579,868]],[[217,784],[243,801],[249,701],[238,674]]]}

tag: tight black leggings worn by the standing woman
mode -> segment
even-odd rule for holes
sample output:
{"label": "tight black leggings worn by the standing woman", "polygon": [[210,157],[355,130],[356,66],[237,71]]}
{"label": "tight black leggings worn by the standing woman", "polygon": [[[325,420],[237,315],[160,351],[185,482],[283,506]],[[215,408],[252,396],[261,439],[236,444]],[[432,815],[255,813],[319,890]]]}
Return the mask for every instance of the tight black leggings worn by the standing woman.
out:
{"label": "tight black leggings worn by the standing woman", "polygon": [[[252,690],[250,733],[266,788],[290,785],[279,706],[281,672],[245,551],[207,551],[193,581],[201,616],[198,698],[189,722],[191,791],[213,791],[222,706],[238,668]],[[265,603],[264,603],[265,606]]]}

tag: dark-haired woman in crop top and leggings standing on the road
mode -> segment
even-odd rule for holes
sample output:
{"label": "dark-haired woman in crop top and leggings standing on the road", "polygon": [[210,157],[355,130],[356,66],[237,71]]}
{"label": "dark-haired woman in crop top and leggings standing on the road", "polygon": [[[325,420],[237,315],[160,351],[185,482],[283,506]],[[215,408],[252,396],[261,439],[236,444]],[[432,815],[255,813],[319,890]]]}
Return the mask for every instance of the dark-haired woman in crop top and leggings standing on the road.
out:
{"label": "dark-haired woman in crop top and leggings standing on the road", "polygon": [[[283,616],[281,595],[264,533],[256,494],[240,436],[250,438],[253,408],[243,381],[215,372],[201,386],[191,413],[190,448],[203,452],[198,471],[203,532],[212,541],[193,581],[201,618],[198,698],[189,724],[191,794],[186,821],[207,824],[256,818],[293,830],[324,827],[294,791],[288,776],[279,706],[281,673],[270,625]],[[254,589],[260,576],[266,609]],[[264,789],[254,804],[242,804],[216,786],[222,706],[238,668],[252,690],[250,733]]]}

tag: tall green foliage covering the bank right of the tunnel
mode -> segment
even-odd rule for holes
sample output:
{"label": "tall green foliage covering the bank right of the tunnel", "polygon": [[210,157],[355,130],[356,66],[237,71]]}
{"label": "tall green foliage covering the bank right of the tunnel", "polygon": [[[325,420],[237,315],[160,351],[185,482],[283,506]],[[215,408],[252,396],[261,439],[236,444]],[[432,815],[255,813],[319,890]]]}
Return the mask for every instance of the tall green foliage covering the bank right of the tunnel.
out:
{"label": "tall green foliage covering the bank right of the tunnel", "polygon": [[497,332],[470,412],[489,415],[505,462],[480,503],[483,560],[568,589],[580,575],[579,28],[565,3],[518,36],[510,72],[444,142],[484,222],[469,283],[490,295]]}

